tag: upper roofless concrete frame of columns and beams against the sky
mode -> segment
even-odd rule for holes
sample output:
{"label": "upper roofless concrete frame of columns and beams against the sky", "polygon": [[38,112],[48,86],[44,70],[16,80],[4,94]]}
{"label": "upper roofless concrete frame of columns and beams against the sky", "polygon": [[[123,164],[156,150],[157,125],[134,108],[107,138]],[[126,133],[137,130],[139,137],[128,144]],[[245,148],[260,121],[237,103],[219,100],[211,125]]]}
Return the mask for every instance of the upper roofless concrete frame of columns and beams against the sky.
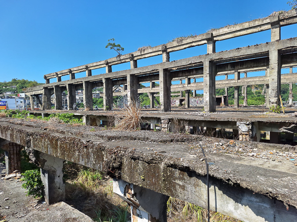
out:
{"label": "upper roofless concrete frame of columns and beams against the sky", "polygon": [[[73,109],[75,103],[75,91],[83,88],[84,106],[93,110],[92,89],[103,87],[104,110],[112,110],[112,97],[127,95],[128,102],[137,100],[139,93],[148,93],[151,101],[158,93],[161,103],[161,111],[170,111],[171,92],[186,92],[186,107],[189,107],[189,91],[203,90],[204,111],[215,111],[215,89],[227,87],[235,88],[234,106],[238,107],[239,86],[244,86],[245,103],[246,86],[252,84],[265,84],[266,106],[279,105],[281,84],[297,82],[293,67],[297,66],[297,38],[281,39],[281,27],[296,24],[297,12],[292,9],[287,12],[275,12],[272,15],[253,21],[210,30],[207,33],[186,37],[154,47],[140,48],[138,51],[117,56],[105,61],[90,63],[83,66],[46,74],[46,84],[27,88],[26,94],[40,100],[38,95],[43,95],[43,101],[38,101],[43,110],[51,108],[50,96],[55,94],[55,109],[62,109],[61,93],[67,90],[68,109]],[[228,51],[216,52],[217,41],[240,37],[248,34],[271,30],[271,41],[236,48]],[[170,62],[170,53],[199,45],[207,45],[204,55],[180,59]],[[152,56],[162,55],[162,63],[146,67],[137,67],[137,61]],[[112,72],[112,66],[130,62],[131,69]],[[92,70],[106,68],[105,74],[92,75]],[[289,68],[289,74],[281,74],[281,69]],[[265,76],[247,77],[247,72],[265,71]],[[76,73],[86,72],[86,77],[75,78]],[[245,73],[241,78],[240,74]],[[228,75],[235,75],[234,79],[228,79]],[[69,75],[70,80],[61,81],[61,76]],[[215,80],[218,75],[225,75],[224,80]],[[49,80],[57,81],[50,83]],[[203,78],[203,82],[196,82],[197,78]],[[185,79],[185,83],[174,84],[172,81]],[[191,81],[191,79],[194,79]],[[155,86],[159,82],[159,86]],[[139,83],[150,83],[149,87],[140,89]],[[113,87],[119,85],[123,92],[113,92]],[[292,89],[292,87],[290,88]],[[292,90],[290,91],[292,95]],[[290,97],[291,98],[291,97]],[[292,100],[289,99],[290,105]],[[153,103],[152,103],[153,104]],[[153,106],[153,105],[152,105]]]}

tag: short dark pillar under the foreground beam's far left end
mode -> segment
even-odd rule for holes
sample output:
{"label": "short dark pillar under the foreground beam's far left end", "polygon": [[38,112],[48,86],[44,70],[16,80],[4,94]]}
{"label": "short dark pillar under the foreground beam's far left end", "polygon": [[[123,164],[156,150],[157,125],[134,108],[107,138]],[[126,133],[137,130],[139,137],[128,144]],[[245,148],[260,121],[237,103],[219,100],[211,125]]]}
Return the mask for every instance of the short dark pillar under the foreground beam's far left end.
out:
{"label": "short dark pillar under the foreground beam's far left end", "polygon": [[21,149],[23,146],[7,140],[1,140],[1,148],[5,152],[6,174],[17,170],[21,173]]}

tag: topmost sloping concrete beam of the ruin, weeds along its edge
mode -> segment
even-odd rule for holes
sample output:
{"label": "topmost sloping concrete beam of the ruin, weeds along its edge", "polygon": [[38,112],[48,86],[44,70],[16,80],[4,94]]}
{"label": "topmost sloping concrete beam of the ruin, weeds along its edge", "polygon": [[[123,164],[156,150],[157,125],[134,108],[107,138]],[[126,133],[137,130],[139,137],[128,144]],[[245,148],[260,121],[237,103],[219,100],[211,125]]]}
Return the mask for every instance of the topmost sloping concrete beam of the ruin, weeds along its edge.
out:
{"label": "topmost sloping concrete beam of the ruin, weeds along its edge", "polygon": [[[44,77],[46,79],[55,78],[56,76],[68,75],[70,73],[80,73],[87,70],[94,70],[99,68],[104,68],[107,65],[117,65],[121,63],[130,62],[131,58],[134,60],[144,59],[152,56],[162,55],[164,49],[167,52],[174,52],[178,50],[183,50],[186,48],[203,45],[207,43],[208,39],[213,39],[214,41],[220,41],[228,38],[245,36],[252,33],[258,33],[265,30],[271,29],[271,18],[274,15],[270,15],[265,18],[255,19],[252,21],[236,24],[236,25],[228,25],[226,27],[222,27],[220,29],[211,29],[209,32],[193,36],[193,37],[185,37],[185,38],[177,38],[172,42],[168,42],[163,45],[157,45],[154,47],[141,47],[136,52],[117,56],[110,58],[105,61],[99,61],[95,63],[90,63],[87,65],[82,65],[78,67],[74,67],[67,70],[62,70],[56,73],[46,74]],[[288,26],[297,23],[297,11],[296,9],[292,9],[287,12],[282,12],[279,14],[279,22],[280,26]]]}

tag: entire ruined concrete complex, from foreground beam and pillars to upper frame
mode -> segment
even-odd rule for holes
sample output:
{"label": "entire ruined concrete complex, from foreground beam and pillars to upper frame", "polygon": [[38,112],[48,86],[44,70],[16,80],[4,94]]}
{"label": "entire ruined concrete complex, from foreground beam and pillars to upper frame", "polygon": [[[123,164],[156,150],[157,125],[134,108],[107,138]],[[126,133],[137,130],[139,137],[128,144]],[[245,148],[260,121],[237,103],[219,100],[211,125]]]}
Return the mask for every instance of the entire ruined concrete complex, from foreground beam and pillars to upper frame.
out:
{"label": "entire ruined concrete complex, from foreground beam and pillars to upper frame", "polygon": [[[289,104],[293,105],[292,84],[297,83],[297,74],[293,73],[293,68],[297,67],[297,37],[281,39],[281,28],[296,23],[297,10],[293,9],[210,30],[198,36],[140,48],[136,52],[105,61],[46,74],[46,84],[25,89],[31,103],[34,104],[35,97],[42,109],[32,111],[31,114],[46,116],[54,112],[50,111],[50,98],[53,94],[55,110],[62,110],[62,92],[67,90],[68,110],[81,116],[87,126],[99,126],[110,120],[108,116],[112,115],[114,109],[113,96],[125,95],[130,104],[131,101],[137,101],[138,94],[148,93],[150,108],[154,108],[154,98],[159,96],[160,109],[144,113],[142,120],[151,129],[155,129],[158,124],[164,135],[165,132],[173,132],[178,127],[178,121],[183,121],[189,132],[208,132],[207,136],[210,136],[209,140],[214,144],[215,138],[211,137],[219,137],[218,129],[220,132],[230,129],[233,137],[237,137],[236,144],[239,147],[248,144],[254,148],[254,152],[258,152],[258,149],[272,149],[296,154],[295,146],[280,142],[280,132],[286,133],[287,141],[294,140],[297,128],[295,115],[279,114],[278,117],[269,117],[259,114],[260,111],[249,113],[229,110],[230,115],[216,112],[216,105],[228,105],[228,87],[235,89],[233,109],[236,110],[239,108],[241,93],[239,86],[253,84],[265,85],[267,108],[280,105],[281,84],[290,84]],[[217,41],[266,30],[271,30],[270,42],[216,52]],[[170,61],[170,53],[204,44],[207,45],[205,54]],[[162,55],[159,64],[138,68],[138,60],[157,55]],[[112,72],[112,66],[121,63],[130,63],[131,69]],[[99,68],[105,68],[106,72],[92,75],[92,70]],[[281,74],[282,69],[289,69],[290,72]],[[247,77],[248,72],[255,71],[265,71],[265,75]],[[75,74],[82,72],[86,72],[86,77],[75,78]],[[240,74],[245,74],[245,77],[241,78]],[[64,75],[69,75],[70,79],[61,81],[61,76]],[[225,76],[225,79],[216,80],[219,75]],[[234,79],[228,78],[229,75],[234,75]],[[57,81],[50,83],[52,78]],[[198,82],[197,78],[203,78],[203,81]],[[185,80],[184,83],[181,80]],[[181,82],[172,85],[172,81]],[[149,83],[149,87],[140,88],[141,83]],[[95,87],[103,87],[104,111],[92,111],[92,90]],[[115,91],[118,88],[121,90]],[[217,88],[225,89],[225,95],[216,96]],[[84,107],[88,111],[71,111],[76,104],[78,89],[83,89]],[[191,90],[195,100],[190,97]],[[196,90],[203,90],[202,98],[196,97]],[[172,92],[178,91],[185,91],[184,101],[172,102]],[[246,95],[246,88],[244,94]],[[42,101],[39,95],[42,95]],[[171,110],[181,103],[185,103],[187,109],[195,106],[194,104],[202,104],[204,112]],[[41,172],[49,203],[65,199],[65,188],[61,180],[63,160],[109,172],[114,177],[114,192],[131,206],[133,222],[166,222],[166,201],[169,196],[204,208],[207,206],[206,170],[205,164],[200,160],[203,156],[185,151],[189,150],[188,145],[175,145],[174,142],[178,139],[172,140],[169,139],[170,136],[164,136],[160,142],[135,132],[119,133],[120,136],[108,135],[107,132],[98,137],[87,132],[79,132],[77,135],[73,132],[76,130],[70,132],[67,128],[50,131],[33,123],[21,126],[5,118],[1,119],[1,148],[6,150],[7,172],[19,167],[14,163],[18,163],[20,148],[26,147],[32,153],[38,152],[38,161],[43,163]],[[270,135],[266,143],[261,139],[261,132]],[[191,138],[189,140],[199,144],[198,139],[193,139],[194,136]],[[140,143],[131,145],[129,140]],[[152,151],[153,147],[149,144],[142,144],[145,141],[156,142],[154,149],[160,151]],[[214,148],[216,146],[223,145],[218,143]],[[206,151],[206,158],[214,162],[209,174],[211,210],[247,222],[297,220],[297,166],[294,168],[289,160],[282,163],[272,161],[269,164],[259,162],[262,160],[253,158],[257,154],[248,157],[224,154],[225,152]],[[145,180],[142,179],[144,177]]]}

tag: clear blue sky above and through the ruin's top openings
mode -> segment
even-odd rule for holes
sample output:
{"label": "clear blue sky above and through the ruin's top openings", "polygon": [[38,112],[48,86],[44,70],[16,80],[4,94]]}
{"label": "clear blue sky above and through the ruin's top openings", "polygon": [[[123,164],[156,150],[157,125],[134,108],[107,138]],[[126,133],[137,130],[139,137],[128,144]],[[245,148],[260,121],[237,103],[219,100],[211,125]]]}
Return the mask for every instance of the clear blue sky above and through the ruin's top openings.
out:
{"label": "clear blue sky above and through the ruin's top openings", "polygon": [[[109,38],[126,54],[289,9],[287,0],[0,0],[0,81],[44,83],[44,74],[115,57],[115,51],[105,48]],[[281,35],[296,37],[297,25],[282,28]],[[216,51],[266,41],[270,31],[219,41]],[[198,46],[171,53],[170,60],[205,53],[206,46]],[[138,66],[160,62],[158,56],[139,60]],[[112,67],[129,68],[128,63]],[[105,70],[93,71],[100,73]]]}

